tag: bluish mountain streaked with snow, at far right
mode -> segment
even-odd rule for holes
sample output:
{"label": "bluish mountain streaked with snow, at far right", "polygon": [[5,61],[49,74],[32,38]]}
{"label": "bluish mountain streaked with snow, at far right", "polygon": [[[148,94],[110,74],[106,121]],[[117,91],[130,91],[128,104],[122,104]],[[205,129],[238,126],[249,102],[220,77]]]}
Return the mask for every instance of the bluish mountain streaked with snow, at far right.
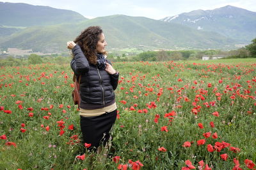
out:
{"label": "bluish mountain streaked with snow, at far right", "polygon": [[218,32],[240,41],[251,41],[256,37],[256,12],[230,5],[214,10],[181,13],[161,20],[198,30]]}

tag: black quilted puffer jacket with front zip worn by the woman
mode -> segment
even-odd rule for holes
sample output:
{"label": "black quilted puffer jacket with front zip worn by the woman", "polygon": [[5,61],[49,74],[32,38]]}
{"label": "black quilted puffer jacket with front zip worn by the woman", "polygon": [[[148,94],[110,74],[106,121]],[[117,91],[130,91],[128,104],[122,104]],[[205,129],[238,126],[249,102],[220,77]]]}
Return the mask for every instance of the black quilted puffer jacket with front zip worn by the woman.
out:
{"label": "black quilted puffer jacket with front zip worn by the woman", "polygon": [[[72,49],[74,59],[70,66],[80,80],[80,107],[83,109],[98,109],[115,103],[115,92],[118,85],[118,74],[109,74],[104,69],[99,69],[89,64],[80,46]],[[111,64],[108,60],[107,62]]]}

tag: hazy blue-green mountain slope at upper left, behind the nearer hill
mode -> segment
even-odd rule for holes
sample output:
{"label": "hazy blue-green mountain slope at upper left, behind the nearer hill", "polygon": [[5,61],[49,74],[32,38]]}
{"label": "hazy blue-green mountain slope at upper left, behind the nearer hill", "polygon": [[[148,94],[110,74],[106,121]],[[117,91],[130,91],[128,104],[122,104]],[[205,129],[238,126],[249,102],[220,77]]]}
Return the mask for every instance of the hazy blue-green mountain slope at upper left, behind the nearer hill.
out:
{"label": "hazy blue-green mountain slope at upper left, behind the nearer hill", "polygon": [[70,10],[60,10],[49,6],[34,6],[24,3],[0,2],[0,25],[32,26],[56,25],[65,22],[87,20],[83,15]]}

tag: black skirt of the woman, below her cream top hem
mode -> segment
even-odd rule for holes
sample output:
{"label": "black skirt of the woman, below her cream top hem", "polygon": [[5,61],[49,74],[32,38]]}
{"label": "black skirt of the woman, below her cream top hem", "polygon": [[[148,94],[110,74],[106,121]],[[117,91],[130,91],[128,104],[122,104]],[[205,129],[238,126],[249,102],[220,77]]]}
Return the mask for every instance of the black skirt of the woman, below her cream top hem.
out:
{"label": "black skirt of the woman, below her cream top hem", "polygon": [[116,120],[117,111],[104,113],[97,117],[82,117],[80,119],[83,142],[91,144],[89,150],[96,150],[99,145],[106,145],[110,131]]}

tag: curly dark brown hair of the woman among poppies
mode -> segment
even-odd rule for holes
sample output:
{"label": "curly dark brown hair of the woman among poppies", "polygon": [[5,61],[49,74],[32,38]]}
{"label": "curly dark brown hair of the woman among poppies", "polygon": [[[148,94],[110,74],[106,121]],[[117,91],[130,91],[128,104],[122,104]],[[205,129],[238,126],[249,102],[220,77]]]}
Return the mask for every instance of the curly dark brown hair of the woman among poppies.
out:
{"label": "curly dark brown hair of the woman among poppies", "polygon": [[91,26],[81,32],[74,42],[81,47],[84,56],[91,64],[97,64],[97,43],[99,36],[102,34],[102,29],[99,26]]}

